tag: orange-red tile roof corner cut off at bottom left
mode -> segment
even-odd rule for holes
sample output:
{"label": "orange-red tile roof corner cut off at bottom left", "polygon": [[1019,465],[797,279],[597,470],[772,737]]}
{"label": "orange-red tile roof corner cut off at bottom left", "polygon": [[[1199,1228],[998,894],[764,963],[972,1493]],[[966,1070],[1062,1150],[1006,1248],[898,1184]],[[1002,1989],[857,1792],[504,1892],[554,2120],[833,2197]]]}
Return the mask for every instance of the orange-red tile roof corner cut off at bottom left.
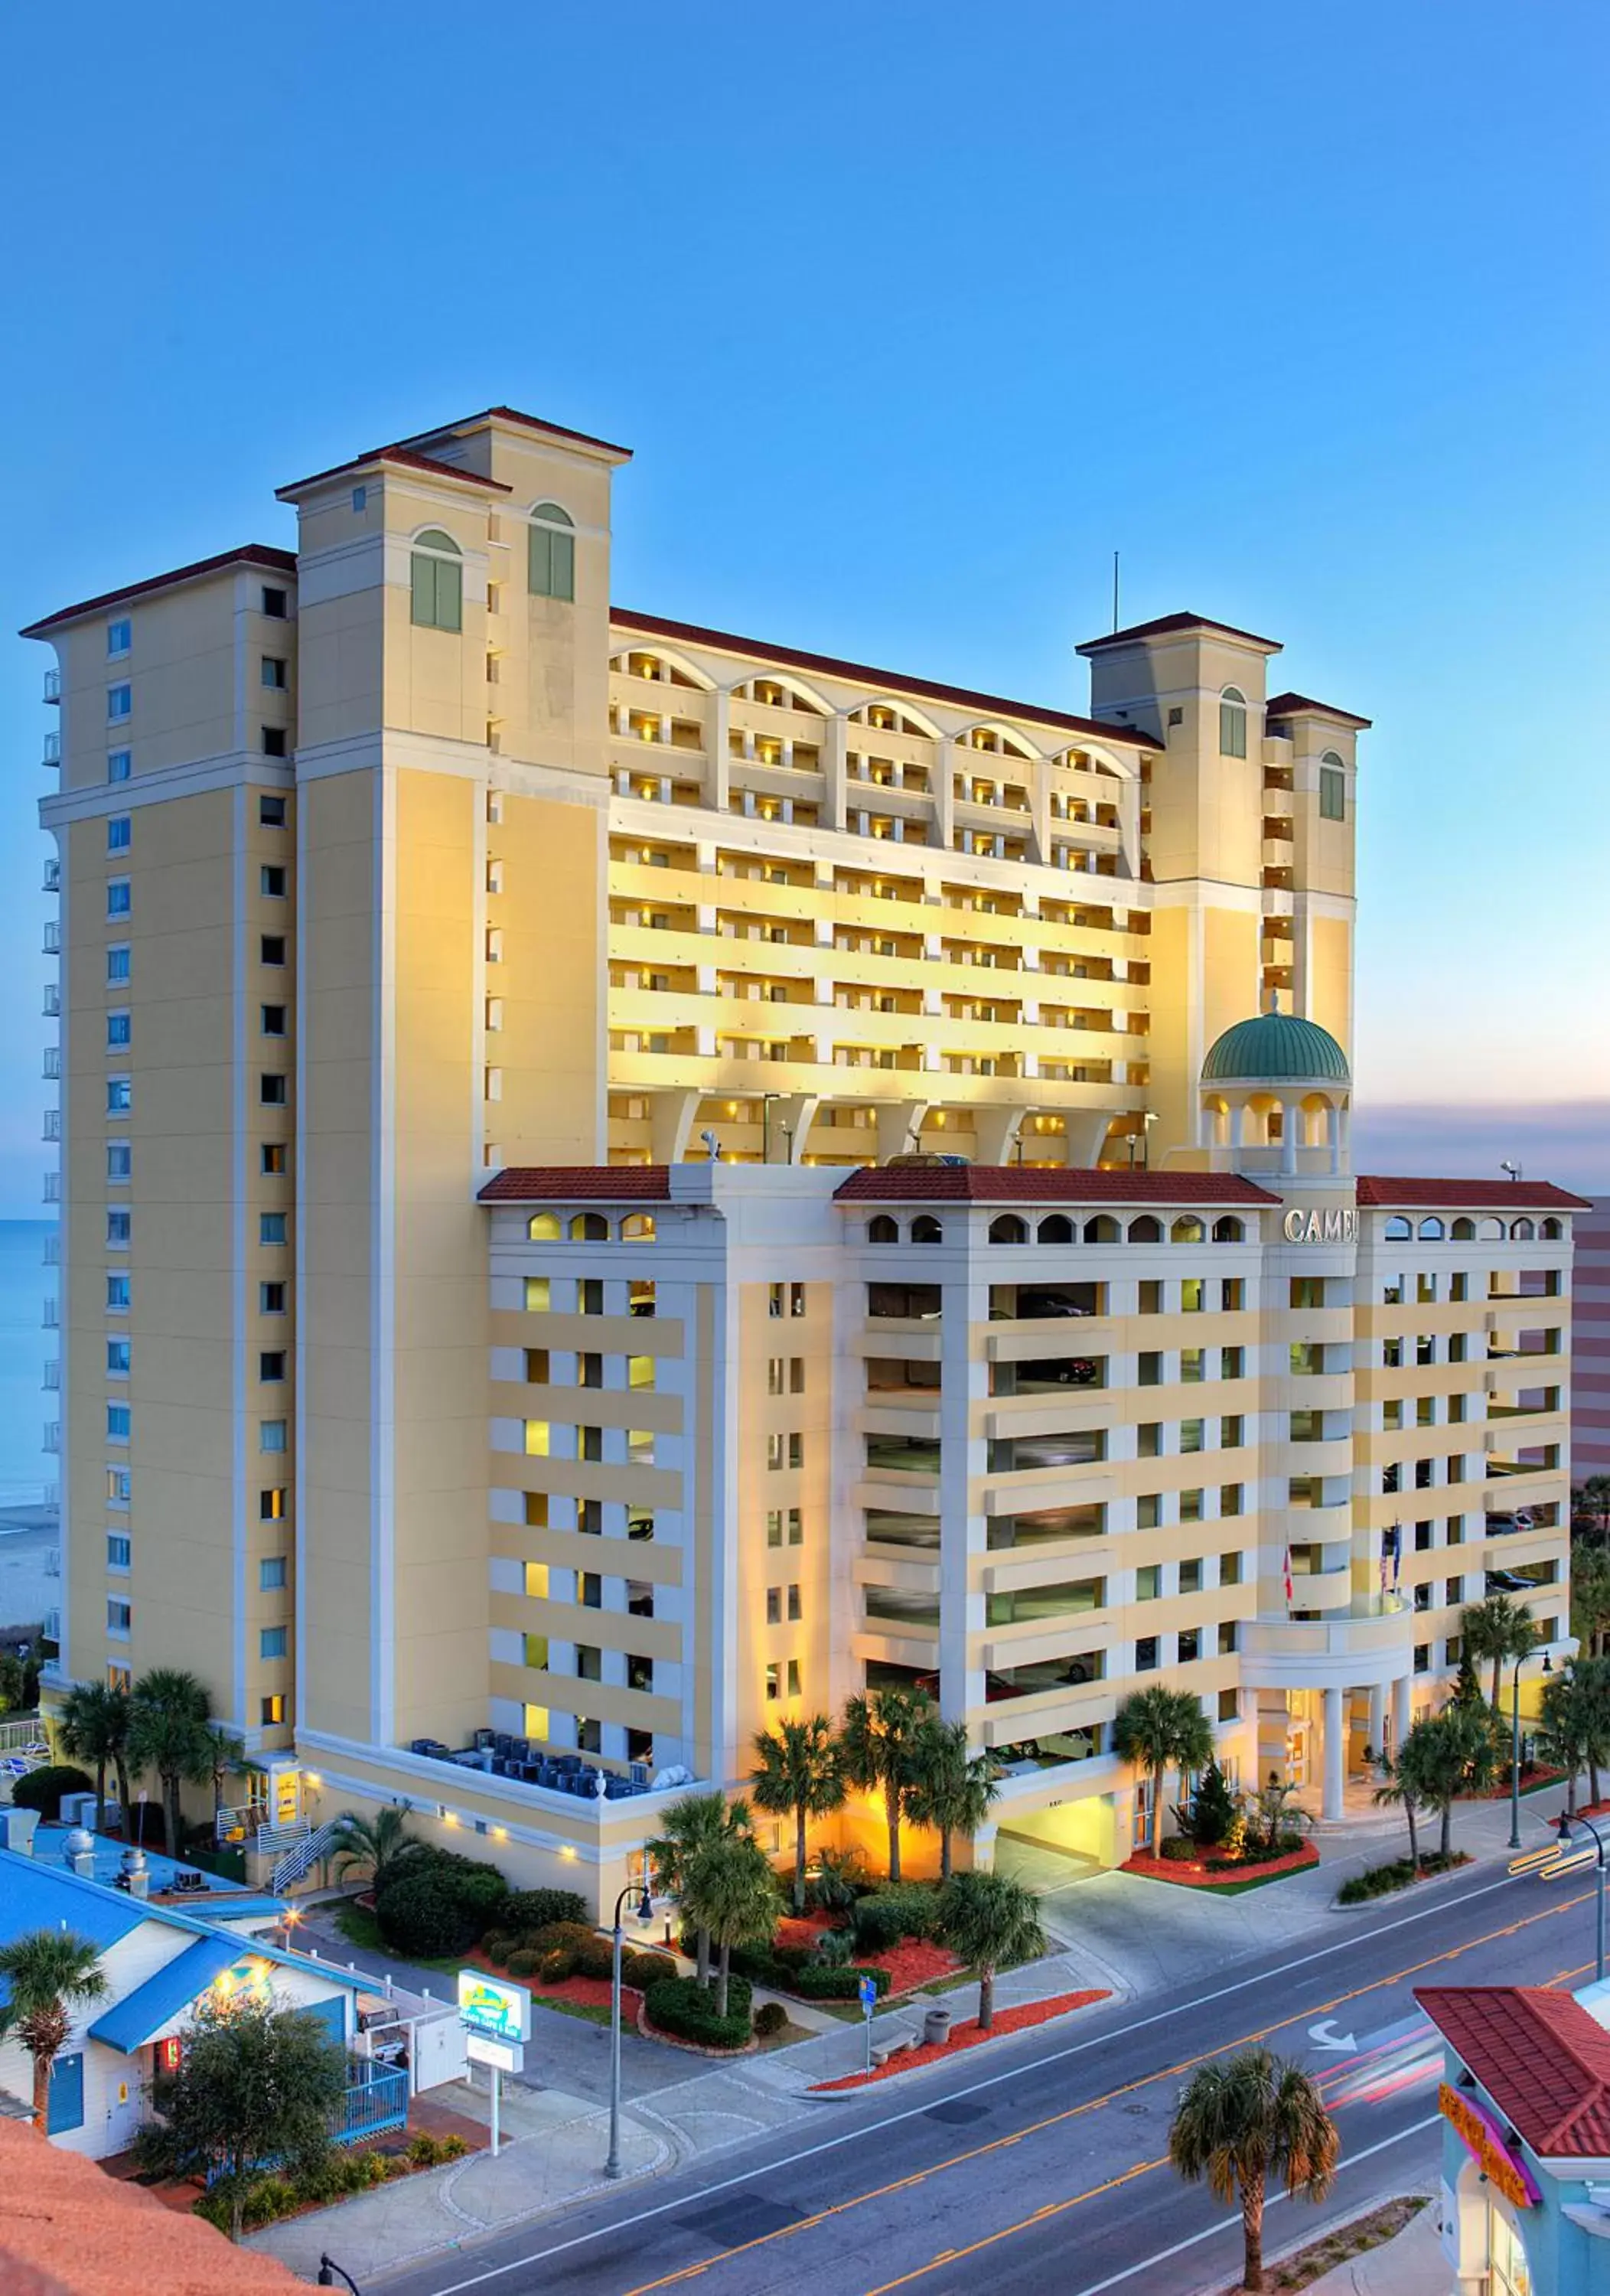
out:
{"label": "orange-red tile roof corner cut off at bottom left", "polygon": [[305,2287],[278,2257],[232,2248],[200,2216],[0,2119],[0,2287],[48,2296],[289,2296]]}

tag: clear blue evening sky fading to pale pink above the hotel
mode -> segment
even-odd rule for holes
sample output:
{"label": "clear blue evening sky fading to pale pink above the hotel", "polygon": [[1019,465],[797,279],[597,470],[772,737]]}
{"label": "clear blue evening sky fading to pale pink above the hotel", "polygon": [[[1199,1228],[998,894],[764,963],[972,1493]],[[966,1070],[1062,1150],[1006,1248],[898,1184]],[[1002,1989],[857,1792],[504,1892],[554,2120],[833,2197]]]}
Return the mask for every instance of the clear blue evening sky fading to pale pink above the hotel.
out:
{"label": "clear blue evening sky fading to pale pink above the hotel", "polygon": [[[1079,709],[1190,608],[1373,719],[1364,1169],[1610,1189],[1601,0],[21,9],[0,631],[491,402],[616,599]],[[48,652],[0,638],[0,1217]]]}

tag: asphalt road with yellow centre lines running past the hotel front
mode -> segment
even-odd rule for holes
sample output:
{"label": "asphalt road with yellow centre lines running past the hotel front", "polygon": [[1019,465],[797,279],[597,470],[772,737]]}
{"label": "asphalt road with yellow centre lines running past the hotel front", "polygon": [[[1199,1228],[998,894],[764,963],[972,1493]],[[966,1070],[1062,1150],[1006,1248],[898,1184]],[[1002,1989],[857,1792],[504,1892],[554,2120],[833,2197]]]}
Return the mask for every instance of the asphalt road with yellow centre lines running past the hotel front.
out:
{"label": "asphalt road with yellow centre lines running past the hotel front", "polygon": [[[1353,1926],[1357,1924],[1357,1926]],[[1440,2048],[1415,1984],[1592,1975],[1576,1883],[1429,1885],[1337,1915],[1199,1986],[1001,2041],[981,2064],[880,2082],[682,2177],[439,2257],[388,2296],[1197,2296],[1238,2278],[1240,2218],[1167,2167],[1190,2069],[1268,2041],[1325,2082],[1344,2167],[1328,2202],[1282,2200],[1268,2250],[1376,2195],[1435,2181]]]}

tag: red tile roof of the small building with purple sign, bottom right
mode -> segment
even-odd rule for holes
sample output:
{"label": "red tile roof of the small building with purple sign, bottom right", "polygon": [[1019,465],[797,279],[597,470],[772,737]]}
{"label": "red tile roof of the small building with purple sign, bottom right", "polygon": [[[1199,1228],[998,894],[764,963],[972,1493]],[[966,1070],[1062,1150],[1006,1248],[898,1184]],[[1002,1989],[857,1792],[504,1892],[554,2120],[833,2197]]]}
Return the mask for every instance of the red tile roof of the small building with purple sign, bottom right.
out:
{"label": "red tile roof of the small building with purple sign, bottom right", "polygon": [[1415,2000],[1534,2154],[1610,2156],[1610,2032],[1541,1986],[1417,1986]]}

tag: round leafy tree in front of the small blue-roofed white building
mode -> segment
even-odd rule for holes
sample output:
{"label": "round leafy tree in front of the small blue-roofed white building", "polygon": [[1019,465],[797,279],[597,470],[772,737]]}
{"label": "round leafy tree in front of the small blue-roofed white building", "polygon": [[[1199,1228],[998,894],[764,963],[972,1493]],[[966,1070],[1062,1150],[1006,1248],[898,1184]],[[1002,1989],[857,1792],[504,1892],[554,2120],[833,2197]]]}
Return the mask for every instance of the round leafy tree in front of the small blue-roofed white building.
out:
{"label": "round leafy tree in front of the small blue-roofed white building", "polygon": [[177,2071],[158,2073],[161,2124],[140,2131],[149,2170],[209,2170],[230,2195],[239,2241],[253,2170],[319,2165],[347,2094],[347,2055],[317,2016],[276,2002],[204,1998]]}

